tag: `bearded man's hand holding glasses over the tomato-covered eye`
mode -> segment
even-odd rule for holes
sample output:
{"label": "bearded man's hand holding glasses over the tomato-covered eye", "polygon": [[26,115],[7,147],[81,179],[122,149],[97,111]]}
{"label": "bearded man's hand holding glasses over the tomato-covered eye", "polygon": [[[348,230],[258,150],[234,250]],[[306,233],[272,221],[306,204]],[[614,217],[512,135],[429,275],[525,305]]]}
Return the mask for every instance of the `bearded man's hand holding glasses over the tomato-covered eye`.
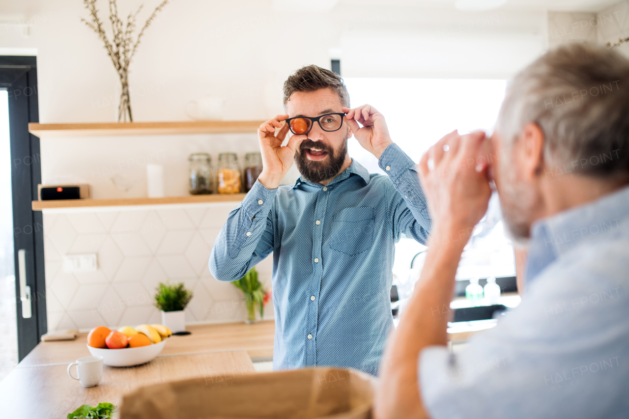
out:
{"label": "bearded man's hand holding glasses over the tomato-covered eye", "polygon": [[[279,186],[279,182],[292,166],[299,144],[304,140],[302,136],[293,135],[286,146],[282,147],[282,142],[289,130],[288,124],[282,126],[282,121],[287,118],[288,115],[277,115],[258,128],[260,152],[262,152],[262,173],[258,180],[267,189],[276,189]],[[301,139],[298,140],[298,137]]]}

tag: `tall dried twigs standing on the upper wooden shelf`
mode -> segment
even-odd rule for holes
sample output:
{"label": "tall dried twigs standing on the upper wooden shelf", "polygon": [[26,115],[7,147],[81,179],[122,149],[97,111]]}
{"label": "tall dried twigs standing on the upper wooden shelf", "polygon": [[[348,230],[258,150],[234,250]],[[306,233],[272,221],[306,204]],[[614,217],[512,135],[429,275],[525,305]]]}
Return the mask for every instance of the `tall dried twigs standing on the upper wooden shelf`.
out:
{"label": "tall dried twigs standing on the upper wooden shelf", "polygon": [[109,36],[103,28],[103,22],[98,16],[98,9],[96,9],[96,0],[83,0],[85,7],[89,10],[92,21],[89,22],[84,18],[81,21],[89,26],[96,35],[104,42],[105,49],[114,64],[118,77],[120,77],[120,87],[122,88],[120,93],[120,105],[118,105],[118,122],[126,122],[129,118],[129,122],[133,122],[133,116],[131,116],[131,98],[129,96],[129,64],[131,59],[135,55],[138,45],[140,45],[140,39],[144,35],[144,31],[152,23],[157,16],[157,13],[162,11],[162,8],[168,3],[168,0],[162,1],[162,3],[155,8],[153,13],[145,21],[144,26],[138,33],[138,37],[133,39],[133,32],[136,29],[136,18],[140,10],[142,10],[143,4],[140,5],[135,13],[129,13],[126,17],[126,23],[118,17],[118,5],[116,0],[109,0],[109,21],[111,21],[111,31],[113,37],[109,40]]}

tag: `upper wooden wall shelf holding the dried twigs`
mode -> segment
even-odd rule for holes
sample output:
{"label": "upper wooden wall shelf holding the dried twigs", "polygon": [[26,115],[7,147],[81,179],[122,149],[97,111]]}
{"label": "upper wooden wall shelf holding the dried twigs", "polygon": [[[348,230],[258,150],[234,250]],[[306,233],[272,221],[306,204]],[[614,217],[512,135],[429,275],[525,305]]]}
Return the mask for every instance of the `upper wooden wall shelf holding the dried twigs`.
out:
{"label": "upper wooden wall shelf holding the dried twigs", "polygon": [[124,123],[28,124],[40,138],[96,137],[103,135],[166,135],[255,133],[264,121],[177,121]]}

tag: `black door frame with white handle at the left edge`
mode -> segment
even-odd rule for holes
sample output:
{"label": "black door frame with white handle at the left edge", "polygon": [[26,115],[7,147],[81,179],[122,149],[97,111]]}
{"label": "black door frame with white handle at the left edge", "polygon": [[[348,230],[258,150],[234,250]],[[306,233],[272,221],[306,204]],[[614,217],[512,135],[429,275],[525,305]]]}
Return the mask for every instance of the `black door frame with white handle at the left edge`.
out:
{"label": "black door frame with white handle at the left edge", "polygon": [[[0,57],[0,87],[8,90],[11,187],[13,198],[13,249],[18,360],[24,359],[47,332],[46,282],[43,258],[42,211],[33,211],[37,185],[42,182],[40,139],[28,132],[28,123],[39,122],[36,57]],[[30,300],[21,301],[19,249],[25,250],[26,285]],[[22,304],[31,304],[32,315],[23,318]]]}

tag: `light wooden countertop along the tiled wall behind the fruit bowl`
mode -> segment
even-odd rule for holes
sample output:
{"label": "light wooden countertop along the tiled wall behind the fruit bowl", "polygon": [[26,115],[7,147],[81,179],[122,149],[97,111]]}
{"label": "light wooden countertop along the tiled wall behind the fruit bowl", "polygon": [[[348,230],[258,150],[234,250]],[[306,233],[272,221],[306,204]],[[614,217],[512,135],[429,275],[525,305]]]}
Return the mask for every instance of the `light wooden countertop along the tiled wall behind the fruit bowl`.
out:
{"label": "light wooden countertop along the tiled wall behind the fruit bowl", "polygon": [[[252,358],[272,357],[275,322],[265,320],[255,325],[245,323],[221,323],[218,325],[187,326],[192,332],[186,336],[168,338],[161,355],[198,354],[245,350]],[[75,340],[40,342],[18,367],[69,364],[77,358],[89,356],[86,347],[87,333],[80,333]]]}

